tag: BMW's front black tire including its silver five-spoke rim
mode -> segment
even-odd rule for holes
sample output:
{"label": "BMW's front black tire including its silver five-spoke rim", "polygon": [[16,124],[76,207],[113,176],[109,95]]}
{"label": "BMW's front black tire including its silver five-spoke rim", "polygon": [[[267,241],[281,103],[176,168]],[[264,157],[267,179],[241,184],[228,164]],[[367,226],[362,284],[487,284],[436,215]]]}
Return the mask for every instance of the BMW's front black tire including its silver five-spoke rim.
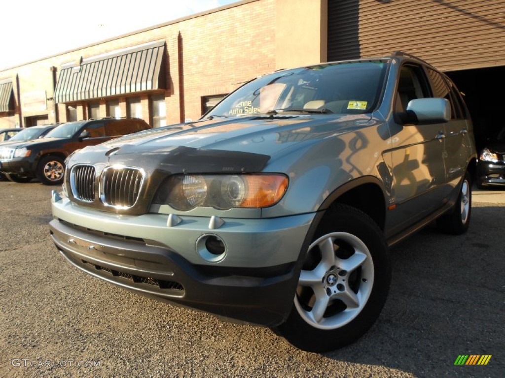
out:
{"label": "BMW's front black tire including its silver five-spoke rim", "polygon": [[336,205],[316,230],[293,308],[275,331],[309,352],[349,345],[379,317],[390,281],[389,249],[381,229],[362,211]]}

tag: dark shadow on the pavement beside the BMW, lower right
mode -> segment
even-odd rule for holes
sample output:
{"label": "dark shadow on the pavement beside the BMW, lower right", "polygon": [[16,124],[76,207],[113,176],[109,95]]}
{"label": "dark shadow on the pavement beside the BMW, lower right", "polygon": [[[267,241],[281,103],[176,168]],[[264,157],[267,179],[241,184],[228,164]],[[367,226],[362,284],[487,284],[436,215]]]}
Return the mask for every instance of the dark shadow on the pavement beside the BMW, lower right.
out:
{"label": "dark shadow on the pavement beside the BMW, lower right", "polygon": [[[326,354],[416,376],[502,376],[505,207],[479,204],[464,235],[429,226],[391,248],[392,282],[381,316],[357,343]],[[459,355],[492,355],[459,366]]]}

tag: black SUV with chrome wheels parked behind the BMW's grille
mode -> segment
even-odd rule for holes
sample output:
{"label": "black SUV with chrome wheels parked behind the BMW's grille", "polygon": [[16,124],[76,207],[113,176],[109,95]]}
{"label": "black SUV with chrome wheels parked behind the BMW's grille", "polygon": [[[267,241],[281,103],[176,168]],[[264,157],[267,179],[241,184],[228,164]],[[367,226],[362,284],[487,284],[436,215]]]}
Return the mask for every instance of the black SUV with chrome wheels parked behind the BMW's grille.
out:
{"label": "black SUV with chrome wheels parked behind the BMW's grille", "polygon": [[75,150],[151,129],[140,118],[94,118],[59,125],[44,138],[0,148],[0,172],[14,182],[38,178],[43,184],[61,184],[65,158]]}

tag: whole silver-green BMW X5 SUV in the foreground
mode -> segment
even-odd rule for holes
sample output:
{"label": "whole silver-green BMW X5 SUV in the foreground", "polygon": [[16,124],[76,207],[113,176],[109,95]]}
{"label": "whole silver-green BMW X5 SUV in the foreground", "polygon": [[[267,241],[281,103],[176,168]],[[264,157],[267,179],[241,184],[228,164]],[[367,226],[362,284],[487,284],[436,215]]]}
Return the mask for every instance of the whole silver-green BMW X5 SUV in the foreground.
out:
{"label": "whole silver-green BMW X5 SUV in the foreground", "polygon": [[95,277],[328,351],[379,317],[390,245],[467,230],[475,159],[460,92],[425,61],[283,70],[71,155],[51,236]]}

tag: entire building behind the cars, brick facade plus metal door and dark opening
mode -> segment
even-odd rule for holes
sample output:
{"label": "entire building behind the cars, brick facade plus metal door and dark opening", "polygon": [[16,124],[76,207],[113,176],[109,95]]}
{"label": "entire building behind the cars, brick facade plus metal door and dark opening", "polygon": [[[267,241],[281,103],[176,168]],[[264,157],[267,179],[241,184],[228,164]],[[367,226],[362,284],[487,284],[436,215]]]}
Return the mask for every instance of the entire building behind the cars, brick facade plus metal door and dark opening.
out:
{"label": "entire building behind the cars, brick facade plus metal door and dark opening", "polygon": [[467,94],[483,138],[505,100],[482,96],[505,73],[503,9],[505,0],[244,0],[0,71],[0,129],[195,120],[259,75],[403,50]]}

